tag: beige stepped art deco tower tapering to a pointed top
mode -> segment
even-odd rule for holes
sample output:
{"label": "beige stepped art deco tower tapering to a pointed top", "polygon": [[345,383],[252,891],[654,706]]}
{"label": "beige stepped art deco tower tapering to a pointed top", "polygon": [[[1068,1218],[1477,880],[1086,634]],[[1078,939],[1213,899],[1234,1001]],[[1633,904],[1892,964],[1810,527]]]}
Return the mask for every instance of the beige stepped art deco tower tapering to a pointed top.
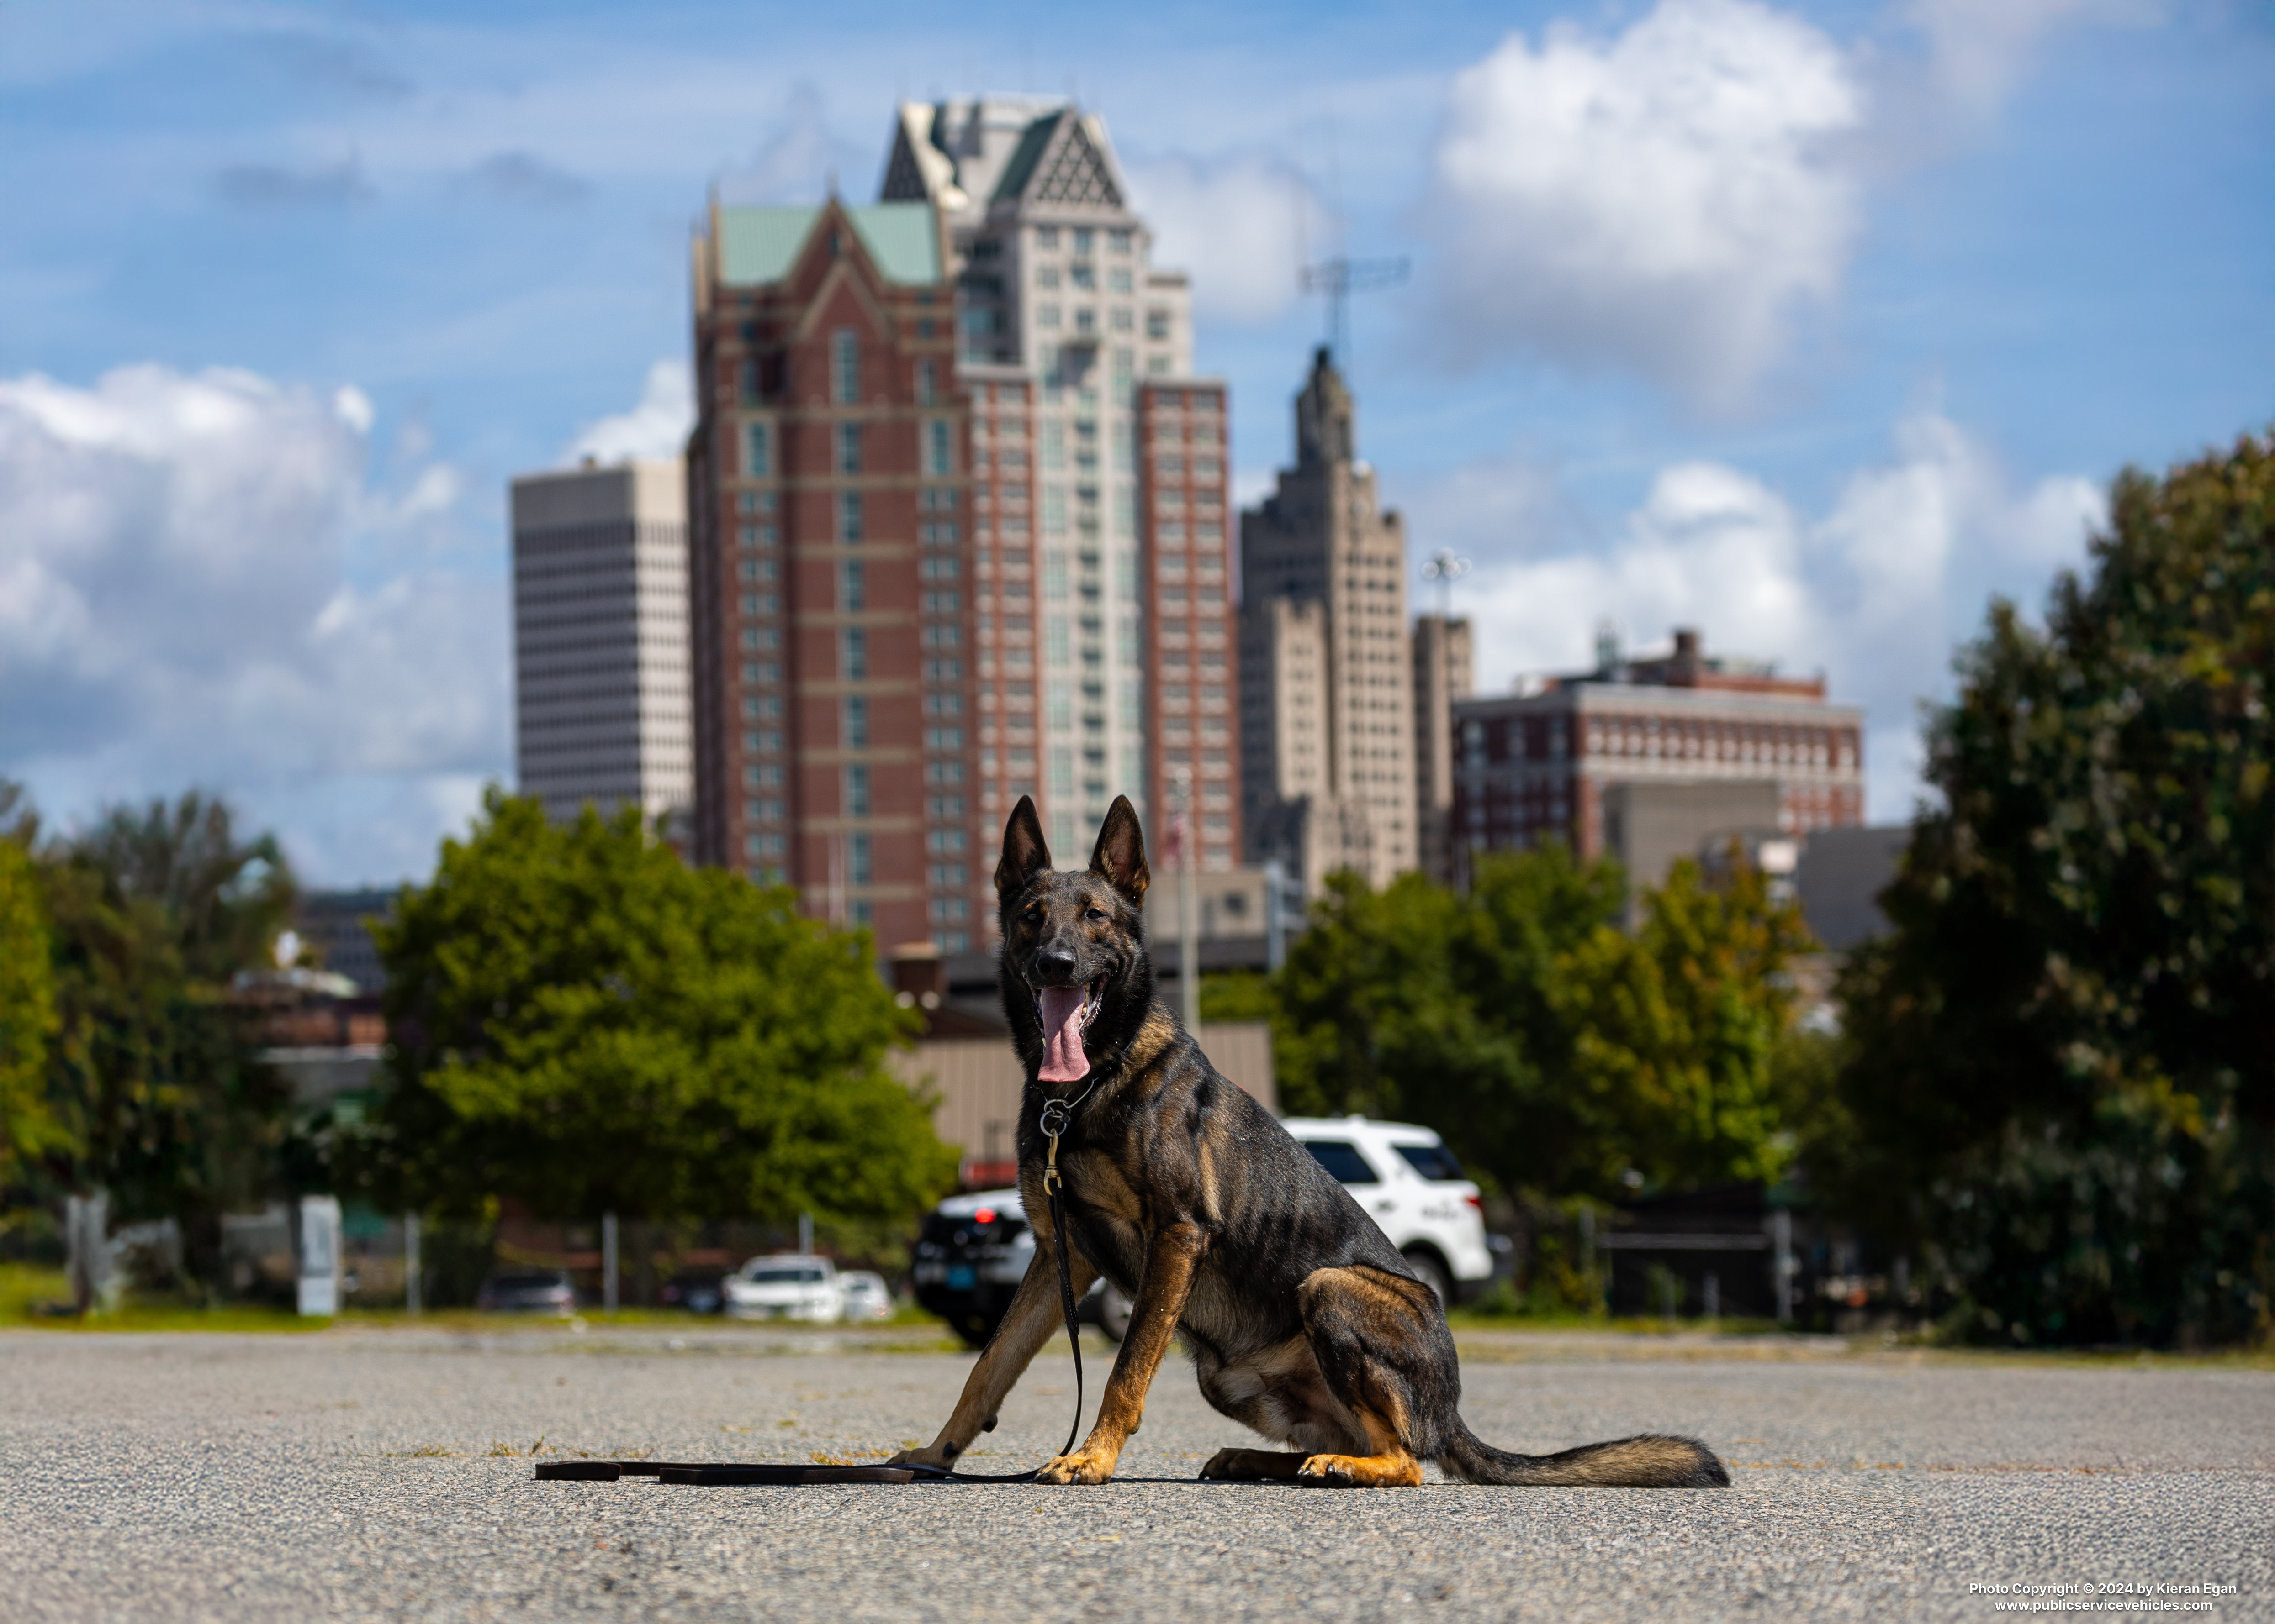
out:
{"label": "beige stepped art deco tower tapering to a pointed top", "polygon": [[1358,459],[1351,391],[1322,348],[1294,403],[1297,462],[1240,516],[1247,846],[1317,892],[1420,860],[1406,525]]}

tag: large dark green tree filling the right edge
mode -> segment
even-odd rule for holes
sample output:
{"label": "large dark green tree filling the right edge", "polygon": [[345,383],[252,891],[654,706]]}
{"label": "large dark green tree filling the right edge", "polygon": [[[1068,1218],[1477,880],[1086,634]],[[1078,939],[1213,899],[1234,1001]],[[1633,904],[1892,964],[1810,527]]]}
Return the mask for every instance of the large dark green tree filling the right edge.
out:
{"label": "large dark green tree filling the right edge", "polygon": [[1925,1244],[1952,1324],[2016,1340],[2266,1333],[2275,1217],[2275,439],[2136,471],[2045,630],[2013,605],[1929,732],[1854,955],[1827,1158]]}

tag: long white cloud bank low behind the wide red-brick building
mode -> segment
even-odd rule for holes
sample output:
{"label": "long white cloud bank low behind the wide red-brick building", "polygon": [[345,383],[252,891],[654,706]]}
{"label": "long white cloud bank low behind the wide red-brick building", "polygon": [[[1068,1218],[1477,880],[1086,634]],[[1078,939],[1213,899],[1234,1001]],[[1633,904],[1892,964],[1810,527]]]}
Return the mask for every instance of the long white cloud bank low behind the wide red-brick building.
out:
{"label": "long white cloud bank low behind the wide red-brick building", "polygon": [[1463,535],[1458,500],[1417,507],[1436,507],[1440,535],[1481,560],[1456,612],[1476,623],[1486,691],[1588,669],[1604,619],[1631,648],[1695,625],[1709,653],[1825,671],[1834,698],[1866,707],[1875,819],[1904,817],[1920,794],[1918,701],[1950,694],[1952,648],[1982,630],[1988,596],[2036,610],[2104,521],[2086,480],[2016,489],[1986,446],[1934,412],[1902,423],[1895,457],[1850,475],[1820,516],[1715,462],[1663,469],[1602,544],[1522,560],[1499,525]]}

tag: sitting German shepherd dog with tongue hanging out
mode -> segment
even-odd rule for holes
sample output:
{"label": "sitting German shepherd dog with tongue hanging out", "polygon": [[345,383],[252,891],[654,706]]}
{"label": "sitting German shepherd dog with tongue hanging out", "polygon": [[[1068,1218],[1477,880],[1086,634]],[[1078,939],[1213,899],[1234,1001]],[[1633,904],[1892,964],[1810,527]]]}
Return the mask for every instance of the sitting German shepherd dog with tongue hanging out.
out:
{"label": "sitting German shepherd dog with tongue hanging out", "polygon": [[1169,1337],[1192,1347],[1201,1394],[1290,1449],[1222,1449],[1203,1478],[1415,1485],[1436,1460],[1470,1483],[1727,1485],[1688,1437],[1622,1437],[1513,1456],[1461,1419],[1461,1365],[1438,1296],[1349,1192],[1274,1117],[1226,1083],[1153,1001],[1138,910],[1138,814],[1117,798],[1087,873],[1053,873],[1035,805],[1003,830],[1003,1012],[1026,1062],[1019,1192],[1035,1262],[924,1449],[949,1467],[996,1424],[1028,1360],[1060,1328],[1046,1101],[1074,1108],[1058,1144],[1076,1294],[1103,1274],[1135,1301],[1099,1419],[1042,1483],[1103,1483],[1144,1412]]}

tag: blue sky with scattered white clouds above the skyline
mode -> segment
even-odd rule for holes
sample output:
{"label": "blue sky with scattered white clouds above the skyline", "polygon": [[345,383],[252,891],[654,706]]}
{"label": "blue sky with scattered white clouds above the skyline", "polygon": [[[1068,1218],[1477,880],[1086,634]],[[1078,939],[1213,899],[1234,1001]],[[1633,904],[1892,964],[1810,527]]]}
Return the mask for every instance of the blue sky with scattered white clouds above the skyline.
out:
{"label": "blue sky with scattered white clouds above the skyline", "polygon": [[[191,782],[325,885],[512,773],[505,480],[685,421],[710,187],[1074,93],[1194,273],[1254,494],[1320,309],[1483,687],[1611,619],[1825,669],[1872,812],[1988,594],[2275,419],[2275,25],[2198,0],[0,9],[0,773]],[[1417,582],[1420,587],[1420,582]]]}

